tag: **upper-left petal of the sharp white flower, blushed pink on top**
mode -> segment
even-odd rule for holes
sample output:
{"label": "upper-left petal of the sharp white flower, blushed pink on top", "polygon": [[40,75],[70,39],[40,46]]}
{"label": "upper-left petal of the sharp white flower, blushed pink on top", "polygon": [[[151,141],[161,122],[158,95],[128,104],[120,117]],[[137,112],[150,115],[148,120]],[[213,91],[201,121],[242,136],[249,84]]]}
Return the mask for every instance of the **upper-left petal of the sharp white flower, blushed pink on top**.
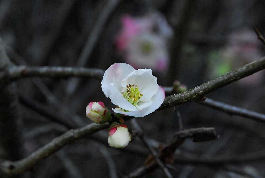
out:
{"label": "upper-left petal of the sharp white flower, blushed pink on top", "polygon": [[104,73],[103,80],[101,82],[101,88],[106,97],[111,95],[109,84],[113,83],[113,86],[117,87],[119,91],[122,90],[120,82],[131,72],[134,68],[126,63],[112,64]]}

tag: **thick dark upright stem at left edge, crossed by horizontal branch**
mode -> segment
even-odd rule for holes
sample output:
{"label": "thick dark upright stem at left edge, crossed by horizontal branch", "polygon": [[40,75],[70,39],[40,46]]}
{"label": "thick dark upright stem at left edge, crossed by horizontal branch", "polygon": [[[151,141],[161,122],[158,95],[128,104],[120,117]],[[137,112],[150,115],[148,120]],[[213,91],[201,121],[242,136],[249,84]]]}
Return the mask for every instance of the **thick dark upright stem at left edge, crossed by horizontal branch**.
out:
{"label": "thick dark upright stem at left edge, crossed by horizontal branch", "polygon": [[[0,38],[0,70],[13,66]],[[16,84],[0,80],[0,147],[1,159],[17,160],[24,157],[22,121],[18,110]]]}

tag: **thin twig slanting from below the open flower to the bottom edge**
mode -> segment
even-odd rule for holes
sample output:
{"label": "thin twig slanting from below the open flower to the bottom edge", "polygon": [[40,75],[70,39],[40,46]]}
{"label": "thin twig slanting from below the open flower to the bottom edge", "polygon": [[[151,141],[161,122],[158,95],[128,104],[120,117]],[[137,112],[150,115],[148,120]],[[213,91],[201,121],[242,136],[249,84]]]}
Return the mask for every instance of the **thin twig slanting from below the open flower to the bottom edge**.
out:
{"label": "thin twig slanting from below the open flower to the bottom edge", "polygon": [[162,169],[162,171],[165,173],[166,177],[168,178],[173,178],[173,176],[170,174],[169,170],[166,168],[164,163],[159,159],[156,151],[152,148],[152,146],[149,144],[147,138],[144,136],[143,130],[141,127],[138,125],[135,119],[131,120],[131,123],[134,126],[134,129],[136,131],[136,134],[138,137],[144,142],[145,146],[148,148],[149,152],[152,154],[154,159],[156,160],[156,163],[158,166]]}

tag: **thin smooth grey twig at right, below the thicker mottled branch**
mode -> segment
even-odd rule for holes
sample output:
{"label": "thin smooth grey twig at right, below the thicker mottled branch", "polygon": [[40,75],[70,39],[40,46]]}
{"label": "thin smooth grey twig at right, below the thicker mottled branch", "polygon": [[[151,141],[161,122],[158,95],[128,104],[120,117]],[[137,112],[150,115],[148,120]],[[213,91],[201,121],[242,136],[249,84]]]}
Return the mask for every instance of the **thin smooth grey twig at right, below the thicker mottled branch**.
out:
{"label": "thin smooth grey twig at right, below the thicker mottled branch", "polygon": [[219,110],[219,111],[222,111],[228,114],[240,115],[242,117],[250,118],[255,121],[265,122],[265,114],[261,114],[261,113],[257,113],[257,112],[250,111],[247,109],[225,104],[219,101],[212,100],[210,98],[206,98],[206,100],[203,102],[198,101],[198,103],[209,106],[210,108],[214,108],[216,110]]}

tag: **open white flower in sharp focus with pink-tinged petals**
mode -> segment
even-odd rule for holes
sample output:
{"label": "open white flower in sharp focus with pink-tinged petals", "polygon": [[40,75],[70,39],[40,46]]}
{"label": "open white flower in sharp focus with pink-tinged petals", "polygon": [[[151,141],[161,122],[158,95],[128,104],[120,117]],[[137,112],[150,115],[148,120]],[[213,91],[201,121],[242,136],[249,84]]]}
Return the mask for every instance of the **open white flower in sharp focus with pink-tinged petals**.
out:
{"label": "open white flower in sharp focus with pink-tinged petals", "polygon": [[165,99],[165,90],[158,86],[152,70],[134,70],[126,63],[111,65],[101,84],[104,94],[118,107],[112,110],[133,117],[152,113]]}

